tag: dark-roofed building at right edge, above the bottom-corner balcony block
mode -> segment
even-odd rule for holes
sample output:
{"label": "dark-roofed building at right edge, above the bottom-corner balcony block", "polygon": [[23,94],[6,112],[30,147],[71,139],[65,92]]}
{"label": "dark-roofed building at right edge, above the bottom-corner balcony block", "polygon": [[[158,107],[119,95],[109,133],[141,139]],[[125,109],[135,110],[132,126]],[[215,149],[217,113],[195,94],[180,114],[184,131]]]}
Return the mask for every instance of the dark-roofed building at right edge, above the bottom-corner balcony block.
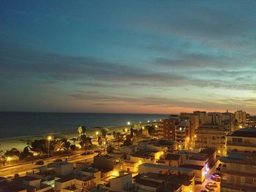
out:
{"label": "dark-roofed building at right edge, above the bottom-corner balcony block", "polygon": [[227,136],[227,152],[255,152],[256,128],[241,128]]}

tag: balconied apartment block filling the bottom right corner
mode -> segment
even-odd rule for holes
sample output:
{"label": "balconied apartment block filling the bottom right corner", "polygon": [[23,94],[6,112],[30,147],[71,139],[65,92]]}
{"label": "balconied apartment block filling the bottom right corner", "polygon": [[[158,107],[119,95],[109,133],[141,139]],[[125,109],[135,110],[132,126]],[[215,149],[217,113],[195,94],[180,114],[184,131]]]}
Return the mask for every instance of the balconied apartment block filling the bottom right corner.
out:
{"label": "balconied apartment block filling the bottom right corner", "polygon": [[219,160],[222,162],[221,191],[256,191],[255,153],[229,153]]}

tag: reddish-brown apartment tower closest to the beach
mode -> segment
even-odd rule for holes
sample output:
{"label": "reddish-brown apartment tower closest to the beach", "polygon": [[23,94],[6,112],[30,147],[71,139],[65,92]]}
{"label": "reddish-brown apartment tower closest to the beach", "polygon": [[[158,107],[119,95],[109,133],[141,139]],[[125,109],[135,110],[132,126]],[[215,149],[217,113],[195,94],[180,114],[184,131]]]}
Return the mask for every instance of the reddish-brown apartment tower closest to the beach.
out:
{"label": "reddish-brown apartment tower closest to the beach", "polygon": [[160,137],[168,141],[175,141],[176,131],[175,119],[164,119],[159,123]]}

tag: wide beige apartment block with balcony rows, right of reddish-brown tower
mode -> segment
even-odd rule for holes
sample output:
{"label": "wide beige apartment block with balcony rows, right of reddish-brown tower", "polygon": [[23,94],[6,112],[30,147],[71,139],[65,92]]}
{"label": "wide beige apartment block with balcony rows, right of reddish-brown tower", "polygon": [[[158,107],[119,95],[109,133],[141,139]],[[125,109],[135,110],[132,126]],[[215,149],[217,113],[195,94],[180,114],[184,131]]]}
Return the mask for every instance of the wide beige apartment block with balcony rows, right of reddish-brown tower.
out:
{"label": "wide beige apartment block with balcony rows, right of reddish-brown tower", "polygon": [[218,125],[202,125],[195,131],[197,139],[195,147],[212,148],[217,155],[227,154],[227,130]]}

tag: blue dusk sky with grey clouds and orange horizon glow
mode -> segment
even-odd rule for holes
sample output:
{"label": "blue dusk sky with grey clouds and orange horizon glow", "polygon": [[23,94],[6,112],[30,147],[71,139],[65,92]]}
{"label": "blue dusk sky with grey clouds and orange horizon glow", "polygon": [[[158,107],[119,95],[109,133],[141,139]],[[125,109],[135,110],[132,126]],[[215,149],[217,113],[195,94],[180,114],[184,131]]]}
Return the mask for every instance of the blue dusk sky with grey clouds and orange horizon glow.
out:
{"label": "blue dusk sky with grey clouds and orange horizon glow", "polygon": [[0,0],[0,111],[256,115],[255,9]]}

